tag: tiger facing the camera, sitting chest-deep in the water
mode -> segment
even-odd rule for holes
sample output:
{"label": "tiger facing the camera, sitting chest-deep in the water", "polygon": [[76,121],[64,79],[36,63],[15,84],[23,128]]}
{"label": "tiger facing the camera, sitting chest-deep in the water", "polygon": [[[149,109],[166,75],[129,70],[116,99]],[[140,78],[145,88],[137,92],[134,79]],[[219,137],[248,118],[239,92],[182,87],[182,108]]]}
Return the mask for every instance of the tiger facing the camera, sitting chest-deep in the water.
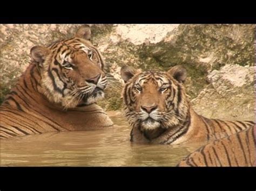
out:
{"label": "tiger facing the camera, sitting chest-deep in the water", "polygon": [[[128,66],[121,69],[125,81],[122,92],[124,110],[132,126],[131,142],[202,142],[205,145],[242,130],[253,129],[254,122],[251,121],[222,121],[198,115],[186,97],[183,84],[186,75],[181,66],[172,67],[167,72],[142,72]],[[254,136],[250,137],[250,145],[254,147]]]}

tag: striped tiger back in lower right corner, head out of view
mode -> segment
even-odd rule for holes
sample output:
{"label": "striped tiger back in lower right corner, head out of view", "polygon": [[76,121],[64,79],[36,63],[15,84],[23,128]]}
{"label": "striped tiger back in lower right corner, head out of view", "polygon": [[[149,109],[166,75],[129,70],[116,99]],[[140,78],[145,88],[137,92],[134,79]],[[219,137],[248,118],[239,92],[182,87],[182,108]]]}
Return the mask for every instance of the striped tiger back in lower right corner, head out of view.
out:
{"label": "striped tiger back in lower right corner, head out of view", "polygon": [[253,127],[214,140],[179,162],[178,167],[256,166]]}

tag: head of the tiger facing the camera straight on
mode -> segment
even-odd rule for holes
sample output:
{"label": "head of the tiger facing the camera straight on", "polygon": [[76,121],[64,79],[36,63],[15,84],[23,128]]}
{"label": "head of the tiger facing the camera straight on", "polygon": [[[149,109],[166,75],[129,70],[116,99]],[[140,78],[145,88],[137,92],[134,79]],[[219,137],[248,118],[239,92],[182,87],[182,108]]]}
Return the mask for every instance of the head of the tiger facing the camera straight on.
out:
{"label": "head of the tiger facing the camera straight on", "polygon": [[187,120],[189,103],[184,81],[186,69],[174,66],[167,72],[121,69],[125,81],[123,101],[131,126],[142,131],[169,129]]}

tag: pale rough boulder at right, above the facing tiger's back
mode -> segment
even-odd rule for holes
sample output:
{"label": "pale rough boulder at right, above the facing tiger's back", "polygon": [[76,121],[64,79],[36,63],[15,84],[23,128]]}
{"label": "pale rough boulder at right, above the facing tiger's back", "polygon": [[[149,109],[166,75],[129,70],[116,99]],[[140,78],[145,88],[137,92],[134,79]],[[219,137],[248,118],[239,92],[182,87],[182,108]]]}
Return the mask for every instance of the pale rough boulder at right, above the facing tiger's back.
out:
{"label": "pale rough boulder at right, above the facing tiger's back", "polygon": [[194,110],[209,118],[254,120],[255,67],[225,65],[207,75],[211,84],[191,101]]}

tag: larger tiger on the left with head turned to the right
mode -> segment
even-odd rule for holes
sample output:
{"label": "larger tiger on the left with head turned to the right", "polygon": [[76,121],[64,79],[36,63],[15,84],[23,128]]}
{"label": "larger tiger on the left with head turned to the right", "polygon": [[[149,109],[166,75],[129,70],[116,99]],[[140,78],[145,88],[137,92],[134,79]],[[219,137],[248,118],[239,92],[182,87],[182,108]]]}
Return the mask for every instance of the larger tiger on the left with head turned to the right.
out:
{"label": "larger tiger on the left with head turned to the right", "polygon": [[0,107],[0,138],[97,130],[113,122],[104,98],[107,65],[82,25],[71,38],[30,49],[32,61]]}

